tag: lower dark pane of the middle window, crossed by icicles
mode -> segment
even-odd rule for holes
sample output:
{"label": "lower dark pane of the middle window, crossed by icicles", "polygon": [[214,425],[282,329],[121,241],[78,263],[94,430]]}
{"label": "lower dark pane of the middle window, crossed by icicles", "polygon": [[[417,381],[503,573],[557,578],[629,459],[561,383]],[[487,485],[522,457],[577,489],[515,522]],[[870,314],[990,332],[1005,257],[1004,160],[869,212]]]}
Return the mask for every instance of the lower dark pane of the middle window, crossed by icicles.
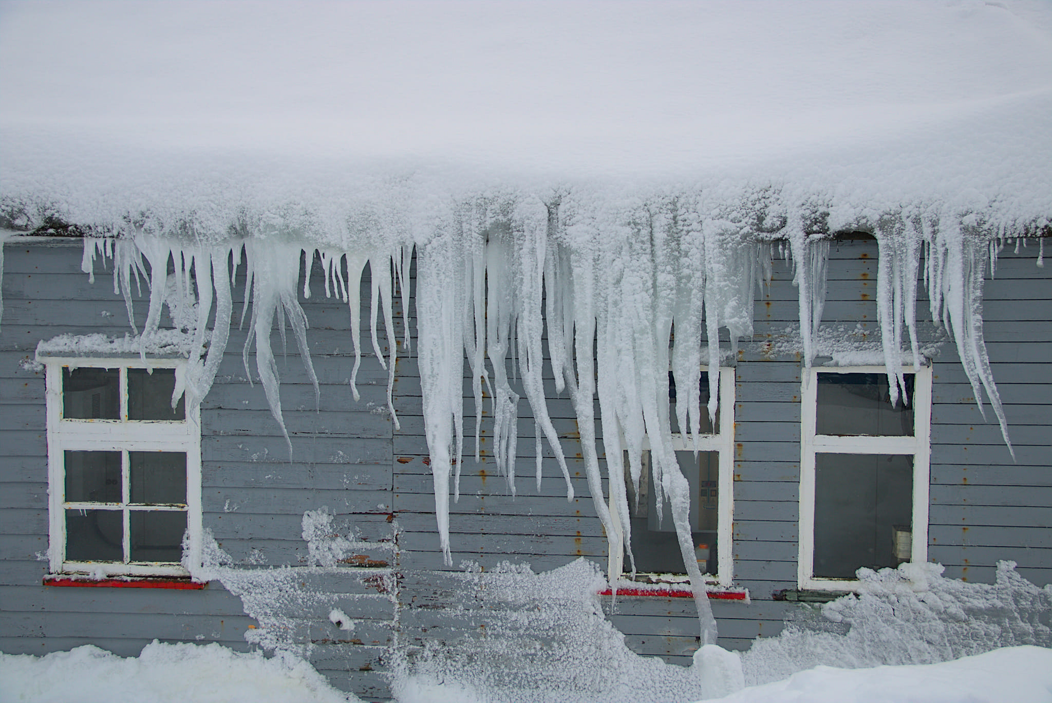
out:
{"label": "lower dark pane of the middle window, crossed by icicles", "polygon": [[[646,455],[645,455],[646,456]],[[716,528],[719,506],[720,455],[716,451],[676,451],[680,469],[690,484],[690,525],[695,558],[702,573],[716,573]],[[635,569],[641,573],[683,574],[683,555],[672,522],[672,506],[664,497],[662,520],[658,520],[658,503],[649,461],[644,466],[636,490],[628,480],[628,502],[632,528],[632,555]],[[625,563],[625,569],[631,565]]]}

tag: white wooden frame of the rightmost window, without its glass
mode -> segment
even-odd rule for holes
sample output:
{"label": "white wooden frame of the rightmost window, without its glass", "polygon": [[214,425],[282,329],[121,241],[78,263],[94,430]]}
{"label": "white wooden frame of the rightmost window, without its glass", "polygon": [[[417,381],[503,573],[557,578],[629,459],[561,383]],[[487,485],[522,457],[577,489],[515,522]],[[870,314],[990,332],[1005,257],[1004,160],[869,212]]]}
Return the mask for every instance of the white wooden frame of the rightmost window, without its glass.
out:
{"label": "white wooden frame of the rightmost window, without its glass", "polygon": [[[854,590],[857,579],[829,579],[814,576],[814,458],[817,454],[907,455],[913,457],[913,510],[911,562],[928,561],[928,491],[931,460],[931,365],[904,366],[913,375],[913,436],[816,435],[818,374],[879,374],[884,366],[826,366],[805,368],[801,393],[801,466],[800,466],[800,588],[815,590]],[[892,381],[893,382],[893,381]]]}

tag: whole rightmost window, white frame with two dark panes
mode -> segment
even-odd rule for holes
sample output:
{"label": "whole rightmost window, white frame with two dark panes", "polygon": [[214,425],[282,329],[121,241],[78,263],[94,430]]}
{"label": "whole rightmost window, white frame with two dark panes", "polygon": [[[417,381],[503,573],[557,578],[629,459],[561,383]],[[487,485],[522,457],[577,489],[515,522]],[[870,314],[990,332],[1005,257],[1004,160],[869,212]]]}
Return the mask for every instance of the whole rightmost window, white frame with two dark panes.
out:
{"label": "whole rightmost window, white frame with two dark panes", "polygon": [[849,589],[859,568],[927,560],[931,368],[807,369],[802,394],[802,588]]}

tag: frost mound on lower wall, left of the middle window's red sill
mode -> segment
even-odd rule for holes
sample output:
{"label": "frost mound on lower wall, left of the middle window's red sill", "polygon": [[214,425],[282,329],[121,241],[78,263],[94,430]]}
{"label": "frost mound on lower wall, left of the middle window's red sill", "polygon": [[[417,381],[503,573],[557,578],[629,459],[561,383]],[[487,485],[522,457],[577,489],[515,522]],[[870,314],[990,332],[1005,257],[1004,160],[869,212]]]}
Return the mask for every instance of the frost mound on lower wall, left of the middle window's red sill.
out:
{"label": "frost mound on lower wall, left of the middle window's red sill", "polygon": [[[600,607],[606,579],[585,559],[544,574],[504,564],[447,577],[461,605],[444,611],[441,640],[392,654],[400,701],[434,700],[443,690],[494,703],[690,701],[734,689],[713,688],[720,677],[711,666],[703,672],[701,663],[683,667],[631,651]],[[729,657],[730,678],[735,669],[740,677],[739,656],[720,651]]]}

